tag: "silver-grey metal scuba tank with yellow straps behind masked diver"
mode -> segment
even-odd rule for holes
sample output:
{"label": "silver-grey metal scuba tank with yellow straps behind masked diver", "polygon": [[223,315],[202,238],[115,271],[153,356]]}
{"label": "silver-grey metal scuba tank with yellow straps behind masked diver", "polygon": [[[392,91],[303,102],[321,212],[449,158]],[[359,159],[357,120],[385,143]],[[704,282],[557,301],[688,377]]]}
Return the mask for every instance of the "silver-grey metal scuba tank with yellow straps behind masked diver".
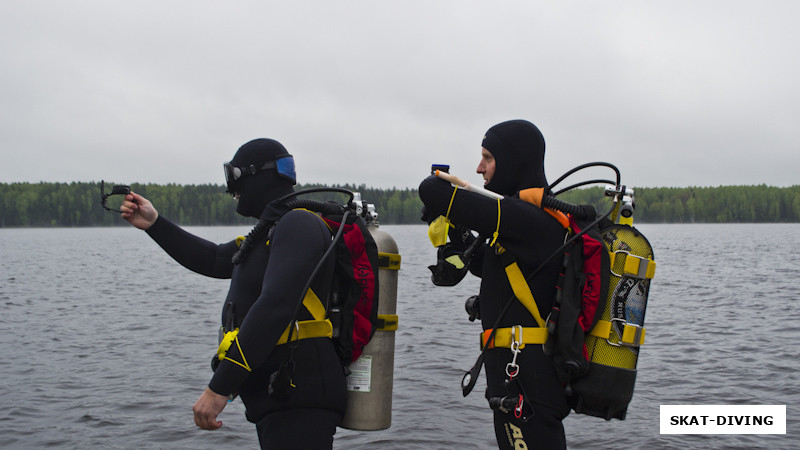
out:
{"label": "silver-grey metal scuba tank with yellow straps behind masked diver", "polygon": [[381,324],[361,356],[348,366],[347,411],[340,425],[361,431],[384,430],[391,426],[394,341],[398,322],[400,254],[389,233],[378,228],[377,214],[372,214],[372,220],[367,220],[367,229],[378,246],[378,319]]}

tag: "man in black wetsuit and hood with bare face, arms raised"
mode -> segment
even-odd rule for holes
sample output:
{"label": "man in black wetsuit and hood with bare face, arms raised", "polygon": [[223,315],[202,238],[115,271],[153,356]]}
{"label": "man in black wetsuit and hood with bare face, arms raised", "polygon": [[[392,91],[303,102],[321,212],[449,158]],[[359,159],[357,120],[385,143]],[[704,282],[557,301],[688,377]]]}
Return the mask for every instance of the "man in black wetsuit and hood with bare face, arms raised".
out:
{"label": "man in black wetsuit and hood with bare face, arms raised", "polygon": [[[483,138],[477,172],[486,180],[486,189],[504,196],[499,202],[499,226],[497,200],[466,190],[458,190],[453,197],[454,188],[450,183],[435,176],[426,178],[419,186],[419,195],[425,205],[423,220],[430,222],[446,215],[449,209],[448,217],[453,225],[478,232],[481,240],[497,232],[497,244],[517,259],[527,277],[563,244],[565,237],[563,226],[555,218],[541,208],[515,198],[520,190],[548,186],[544,175],[544,138],[539,129],[523,120],[503,122],[489,129]],[[454,233],[451,232],[450,236],[453,238]],[[467,241],[460,244],[466,246],[471,239],[474,238],[468,236]],[[454,245],[459,245],[458,238]],[[530,282],[539,312],[545,318],[552,306],[560,266],[559,258],[553,258]],[[503,262],[495,248],[481,244],[469,269],[482,278],[479,305],[484,330],[495,326],[509,300],[512,304],[498,328],[537,326],[532,314],[513,298]],[[487,398],[507,394],[504,382],[509,378],[506,365],[510,362],[512,352],[509,348],[486,351]],[[522,423],[515,420],[514,411],[495,411],[499,448],[566,448],[561,421],[569,413],[569,406],[564,389],[556,379],[552,361],[544,355],[541,345],[529,344],[522,349],[516,364],[519,365],[516,377],[522,382],[534,413]]]}

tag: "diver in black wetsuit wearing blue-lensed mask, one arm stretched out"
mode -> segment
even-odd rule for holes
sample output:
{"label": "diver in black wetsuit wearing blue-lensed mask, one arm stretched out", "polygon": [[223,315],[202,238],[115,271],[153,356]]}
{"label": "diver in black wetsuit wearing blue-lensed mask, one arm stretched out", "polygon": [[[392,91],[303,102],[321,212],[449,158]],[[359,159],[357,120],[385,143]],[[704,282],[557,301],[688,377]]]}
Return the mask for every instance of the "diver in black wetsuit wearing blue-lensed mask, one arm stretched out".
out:
{"label": "diver in black wetsuit wearing blue-lensed mask, one arm stretched out", "polygon": [[[247,246],[246,255],[239,255],[238,264],[232,262],[239,249],[235,241],[217,245],[194,236],[159,216],[147,199],[135,193],[127,195],[121,207],[124,219],[146,230],[183,266],[231,280],[222,324],[239,328],[238,342],[231,345],[195,403],[195,423],[206,430],[222,426],[217,415],[230,396],[238,394],[247,419],[256,424],[262,448],[331,448],[347,402],[344,371],[333,342],[318,337],[275,345],[331,245],[331,233],[317,215],[285,212],[274,201],[293,192],[295,184],[294,161],[277,141],[244,144],[225,169],[228,191],[238,199],[236,211],[266,224],[254,228],[248,237],[253,245]],[[269,235],[256,232],[269,230],[273,222]],[[329,258],[311,283],[323,301],[329,294],[333,263]],[[312,318],[304,308],[300,311],[298,320]],[[294,387],[280,399],[270,395],[270,375],[290,359],[289,353]]]}

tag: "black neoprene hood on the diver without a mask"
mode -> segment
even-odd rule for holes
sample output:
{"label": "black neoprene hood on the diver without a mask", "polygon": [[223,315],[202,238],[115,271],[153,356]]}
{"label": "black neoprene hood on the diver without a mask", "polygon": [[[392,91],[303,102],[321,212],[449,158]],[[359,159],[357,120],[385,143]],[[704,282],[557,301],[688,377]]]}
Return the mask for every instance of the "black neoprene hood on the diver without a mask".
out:
{"label": "black neoprene hood on the diver without a mask", "polygon": [[514,195],[522,189],[546,187],[544,136],[527,120],[509,120],[486,132],[481,144],[495,159],[490,191]]}

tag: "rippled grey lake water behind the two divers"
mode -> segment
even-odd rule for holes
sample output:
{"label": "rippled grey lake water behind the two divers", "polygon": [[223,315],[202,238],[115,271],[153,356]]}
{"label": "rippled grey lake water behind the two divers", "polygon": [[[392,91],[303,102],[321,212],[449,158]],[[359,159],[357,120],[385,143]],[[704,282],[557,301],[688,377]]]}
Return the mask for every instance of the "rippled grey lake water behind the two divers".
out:
{"label": "rippled grey lake water behind the two divers", "polygon": [[[571,414],[569,447],[800,446],[800,225],[639,228],[658,269],[634,399],[625,421]],[[496,448],[484,376],[467,398],[459,386],[478,356],[464,300],[479,281],[434,287],[425,227],[381,229],[403,258],[392,427],[340,429],[334,447]],[[189,230],[222,242],[249,228]],[[0,229],[0,447],[257,447],[238,400],[220,430],[192,419],[226,290],[133,228]],[[787,435],[660,435],[662,404],[787,405]]]}

